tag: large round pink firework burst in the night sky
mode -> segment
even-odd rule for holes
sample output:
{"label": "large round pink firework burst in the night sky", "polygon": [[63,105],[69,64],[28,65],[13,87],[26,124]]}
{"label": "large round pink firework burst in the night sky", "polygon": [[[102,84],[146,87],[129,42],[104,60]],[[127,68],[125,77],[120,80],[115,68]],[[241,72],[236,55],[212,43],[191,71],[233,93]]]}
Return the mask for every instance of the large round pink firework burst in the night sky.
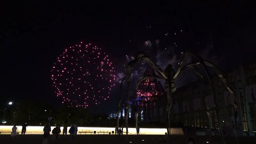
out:
{"label": "large round pink firework burst in the night sky", "polygon": [[51,70],[53,88],[70,107],[99,105],[115,86],[113,63],[97,46],[83,42],[70,46]]}

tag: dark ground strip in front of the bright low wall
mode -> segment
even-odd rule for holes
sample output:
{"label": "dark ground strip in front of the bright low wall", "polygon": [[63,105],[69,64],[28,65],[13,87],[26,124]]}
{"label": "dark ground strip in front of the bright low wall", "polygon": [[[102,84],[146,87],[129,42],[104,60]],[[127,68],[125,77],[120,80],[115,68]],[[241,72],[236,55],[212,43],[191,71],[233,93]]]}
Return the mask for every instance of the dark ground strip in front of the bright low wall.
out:
{"label": "dark ground strip in front of the bright low wall", "polygon": [[[52,135],[51,135],[52,136]],[[71,141],[69,135],[60,135],[58,141],[50,139],[49,144],[53,143],[95,143],[95,144],[118,144],[118,143],[166,143],[161,140],[164,139],[164,135],[128,135],[126,140],[125,135],[77,135],[76,141]],[[171,143],[186,143],[183,135],[172,135]],[[238,138],[239,143],[256,143],[256,137],[241,137]],[[206,143],[209,141],[209,137],[199,136],[195,138],[195,143]],[[42,135],[17,135],[14,139],[10,135],[0,135],[0,144],[37,144],[43,143]],[[209,143],[222,143],[220,137],[212,137],[212,141]],[[226,143],[236,143],[234,137],[226,138]]]}

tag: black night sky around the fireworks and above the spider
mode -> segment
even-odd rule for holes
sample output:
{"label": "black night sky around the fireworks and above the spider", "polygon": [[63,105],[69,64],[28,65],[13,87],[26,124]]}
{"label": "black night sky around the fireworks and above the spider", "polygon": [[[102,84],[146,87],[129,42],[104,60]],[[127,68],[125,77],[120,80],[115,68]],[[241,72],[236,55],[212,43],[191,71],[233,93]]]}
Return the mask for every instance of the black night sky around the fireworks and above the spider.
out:
{"label": "black night sky around the fireworks and above the spider", "polygon": [[[38,98],[52,105],[56,97],[51,69],[65,48],[83,41],[109,55],[116,86],[103,112],[116,111],[119,79],[125,65],[145,52],[159,66],[177,65],[190,50],[223,71],[256,62],[253,5],[238,2],[0,2],[1,103]],[[145,65],[134,71],[139,78]],[[185,84],[180,81],[179,85]]]}

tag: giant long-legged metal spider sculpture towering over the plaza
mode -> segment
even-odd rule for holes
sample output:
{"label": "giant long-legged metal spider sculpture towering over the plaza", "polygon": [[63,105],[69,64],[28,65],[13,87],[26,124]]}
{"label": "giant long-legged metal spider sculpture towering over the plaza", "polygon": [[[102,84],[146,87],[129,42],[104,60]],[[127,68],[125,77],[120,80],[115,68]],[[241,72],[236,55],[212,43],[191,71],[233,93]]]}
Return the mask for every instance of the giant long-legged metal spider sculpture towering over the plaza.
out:
{"label": "giant long-legged metal spider sculpture towering over the plaza", "polygon": [[[172,65],[168,65],[166,67],[165,70],[161,69],[158,65],[156,65],[156,63],[154,63],[147,55],[143,54],[143,53],[140,53],[137,55],[137,57],[132,60],[131,62],[128,63],[127,67],[126,67],[126,74],[125,74],[125,77],[122,79],[122,83],[121,83],[121,99],[119,101],[119,104],[118,104],[118,110],[117,110],[117,127],[119,127],[119,113],[121,111],[121,105],[122,105],[122,100],[123,100],[123,94],[122,94],[122,87],[123,85],[125,84],[125,82],[127,83],[127,95],[126,95],[126,101],[125,101],[125,116],[124,116],[124,121],[125,121],[125,127],[126,127],[126,135],[128,133],[128,118],[129,118],[129,108],[130,108],[130,86],[131,86],[131,74],[132,74],[132,69],[134,67],[134,65],[140,61],[143,61],[145,60],[150,66],[152,66],[156,73],[158,75],[156,76],[142,76],[137,85],[135,86],[135,93],[134,93],[134,102],[133,102],[133,106],[135,108],[135,127],[136,127],[136,130],[138,132],[138,104],[137,104],[137,89],[138,89],[138,86],[139,84],[142,82],[142,81],[145,81],[145,79],[147,78],[159,78],[159,79],[163,79],[165,81],[165,93],[167,95],[167,114],[166,114],[166,129],[167,129],[167,143],[170,141],[170,134],[171,134],[171,127],[170,127],[170,110],[171,110],[171,107],[173,105],[172,103],[172,94],[176,91],[176,87],[175,87],[175,80],[180,76],[180,74],[183,73],[183,71],[189,69],[189,68],[192,68],[195,73],[197,75],[199,75],[202,79],[203,79],[203,82],[205,84],[208,84],[210,86],[210,90],[211,90],[211,95],[213,95],[213,98],[214,98],[214,110],[213,110],[213,113],[215,116],[217,116],[217,122],[218,122],[218,125],[219,125],[219,130],[221,132],[221,124],[220,124],[220,118],[219,118],[219,115],[217,115],[218,113],[218,107],[216,105],[216,101],[215,101],[215,94],[213,93],[213,89],[212,89],[212,82],[211,82],[211,79],[210,79],[210,74],[209,74],[209,70],[207,70],[206,66],[209,66],[211,68],[213,68],[213,70],[215,71],[215,73],[218,74],[219,78],[222,80],[222,82],[224,83],[224,85],[226,86],[226,88],[228,89],[228,91],[230,93],[232,93],[235,97],[235,92],[228,86],[227,84],[227,81],[226,79],[223,77],[221,71],[213,65],[213,63],[211,62],[207,62],[205,60],[203,60],[202,57],[200,57],[199,55],[193,53],[193,52],[190,52],[190,51],[186,51],[186,52],[182,52],[181,53],[181,61],[178,63],[178,68],[176,70],[174,70],[174,68],[172,67]],[[186,58],[187,56],[191,56],[191,57],[194,57],[196,58],[197,62],[192,62],[192,63],[189,63],[187,65],[185,65],[185,61],[186,61]],[[185,65],[185,66],[184,66]],[[202,75],[199,70],[198,70],[198,66],[202,66],[203,68],[203,73],[204,75]],[[210,110],[210,107],[209,107],[209,102],[207,101],[206,99],[206,95],[205,95],[205,107],[206,107],[206,113],[207,113],[207,117],[209,119],[209,132],[210,132],[210,135],[211,135],[211,110]],[[234,117],[235,117],[235,126],[234,126],[234,132],[236,134],[236,125],[237,125],[237,111],[238,111],[238,105],[237,105],[237,102],[236,102],[236,99],[234,98],[234,103],[233,103],[233,108],[234,108]],[[222,132],[221,132],[222,134]],[[211,136],[210,136],[210,140],[211,140]],[[222,134],[222,140],[223,140],[223,143],[225,143],[225,140],[223,138],[223,134]],[[236,140],[237,140],[237,135],[236,135]],[[238,143],[238,140],[237,140],[237,143]]]}

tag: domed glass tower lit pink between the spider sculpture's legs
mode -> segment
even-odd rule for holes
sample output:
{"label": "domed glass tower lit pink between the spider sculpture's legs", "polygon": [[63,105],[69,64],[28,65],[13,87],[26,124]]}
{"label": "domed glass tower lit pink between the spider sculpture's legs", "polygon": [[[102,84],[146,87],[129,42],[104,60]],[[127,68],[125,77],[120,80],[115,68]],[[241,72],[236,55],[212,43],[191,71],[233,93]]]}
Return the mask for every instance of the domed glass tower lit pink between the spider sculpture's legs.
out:
{"label": "domed glass tower lit pink between the spider sculpture's legs", "polygon": [[[145,70],[143,76],[155,76],[155,71],[152,68]],[[139,111],[139,119],[143,122],[165,122],[165,105],[164,102],[164,89],[162,84],[157,81],[157,78],[147,78],[142,81],[137,90],[137,104]],[[134,98],[131,99],[134,101]],[[131,102],[131,104],[132,104]],[[133,115],[134,110],[132,106],[130,109],[130,115]],[[131,117],[131,116],[130,116]]]}

